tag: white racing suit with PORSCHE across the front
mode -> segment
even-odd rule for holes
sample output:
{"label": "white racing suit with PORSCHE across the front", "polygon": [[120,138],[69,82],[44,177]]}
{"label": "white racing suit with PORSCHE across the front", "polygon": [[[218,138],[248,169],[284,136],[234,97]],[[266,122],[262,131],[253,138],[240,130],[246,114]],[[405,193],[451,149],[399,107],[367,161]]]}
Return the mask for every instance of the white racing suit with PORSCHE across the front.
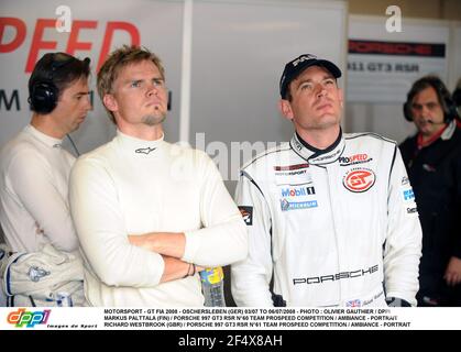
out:
{"label": "white racing suit with PORSCHE across the front", "polygon": [[421,229],[393,141],[340,133],[319,151],[295,134],[242,168],[235,197],[249,229],[239,306],[416,305]]}

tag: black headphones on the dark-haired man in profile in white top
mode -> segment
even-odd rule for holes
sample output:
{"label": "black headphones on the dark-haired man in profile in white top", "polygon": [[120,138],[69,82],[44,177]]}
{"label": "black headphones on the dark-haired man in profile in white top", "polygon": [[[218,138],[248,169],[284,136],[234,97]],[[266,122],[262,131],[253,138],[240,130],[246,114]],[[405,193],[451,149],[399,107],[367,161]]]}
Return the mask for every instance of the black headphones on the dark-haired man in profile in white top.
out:
{"label": "black headphones on the dark-haired man in profile in white top", "polygon": [[50,74],[46,79],[36,80],[30,91],[29,103],[32,110],[45,114],[50,113],[57,106],[57,98],[59,97],[59,89],[54,84],[53,78],[55,73],[76,58],[66,56],[66,59],[56,59],[56,54],[53,54]]}

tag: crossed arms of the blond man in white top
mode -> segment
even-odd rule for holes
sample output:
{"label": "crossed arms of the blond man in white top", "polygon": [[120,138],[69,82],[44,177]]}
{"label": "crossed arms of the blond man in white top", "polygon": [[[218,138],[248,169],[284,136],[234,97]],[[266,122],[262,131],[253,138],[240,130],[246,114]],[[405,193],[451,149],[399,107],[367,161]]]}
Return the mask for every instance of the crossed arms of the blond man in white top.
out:
{"label": "crossed arms of the blond man in white top", "polygon": [[[111,167],[91,155],[77,161],[70,175],[72,215],[81,250],[102,283],[153,287],[246,255],[245,224],[213,162],[207,157],[207,164],[198,168],[211,174],[198,177],[202,182],[197,185],[200,196],[195,201],[200,227],[194,229],[190,222],[185,227],[191,230],[185,232],[133,234],[127,226],[127,209],[120,207],[120,180]],[[143,217],[142,212],[129,215],[132,223],[142,222]],[[194,264],[200,267],[194,271]]]}

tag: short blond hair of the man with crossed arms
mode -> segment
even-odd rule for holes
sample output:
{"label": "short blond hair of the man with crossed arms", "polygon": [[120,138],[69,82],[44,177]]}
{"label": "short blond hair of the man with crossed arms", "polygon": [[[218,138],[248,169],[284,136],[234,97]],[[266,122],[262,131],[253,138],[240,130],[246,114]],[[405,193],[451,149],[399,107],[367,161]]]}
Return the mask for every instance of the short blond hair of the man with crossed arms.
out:
{"label": "short blond hair of the man with crossed arms", "polygon": [[[165,69],[157,55],[145,47],[123,45],[109,55],[98,73],[97,87],[101,100],[103,101],[106,95],[113,92],[112,85],[123,67],[143,61],[151,61],[158,68],[162,79],[165,80]],[[106,111],[116,123],[113,113],[107,108]]]}

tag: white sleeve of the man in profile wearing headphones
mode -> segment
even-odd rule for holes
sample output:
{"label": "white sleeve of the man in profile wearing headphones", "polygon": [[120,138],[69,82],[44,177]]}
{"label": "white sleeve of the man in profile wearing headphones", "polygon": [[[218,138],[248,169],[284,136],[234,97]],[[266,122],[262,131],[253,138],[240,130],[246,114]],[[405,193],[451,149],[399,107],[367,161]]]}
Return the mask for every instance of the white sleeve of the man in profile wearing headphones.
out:
{"label": "white sleeve of the man in profile wearing headphones", "polygon": [[67,199],[56,188],[51,167],[35,151],[24,148],[9,165],[9,182],[53,246],[73,252],[78,249],[78,239]]}

